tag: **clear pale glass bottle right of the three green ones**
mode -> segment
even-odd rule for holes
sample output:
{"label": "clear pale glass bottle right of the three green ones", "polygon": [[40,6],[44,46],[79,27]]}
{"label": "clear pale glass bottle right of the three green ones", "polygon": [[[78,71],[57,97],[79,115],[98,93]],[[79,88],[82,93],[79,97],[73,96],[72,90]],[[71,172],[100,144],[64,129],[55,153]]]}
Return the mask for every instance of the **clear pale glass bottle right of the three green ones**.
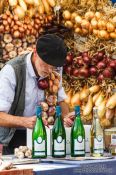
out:
{"label": "clear pale glass bottle right of the three green ones", "polygon": [[97,107],[93,108],[93,123],[90,130],[90,150],[92,156],[103,156],[104,134],[100,125]]}

